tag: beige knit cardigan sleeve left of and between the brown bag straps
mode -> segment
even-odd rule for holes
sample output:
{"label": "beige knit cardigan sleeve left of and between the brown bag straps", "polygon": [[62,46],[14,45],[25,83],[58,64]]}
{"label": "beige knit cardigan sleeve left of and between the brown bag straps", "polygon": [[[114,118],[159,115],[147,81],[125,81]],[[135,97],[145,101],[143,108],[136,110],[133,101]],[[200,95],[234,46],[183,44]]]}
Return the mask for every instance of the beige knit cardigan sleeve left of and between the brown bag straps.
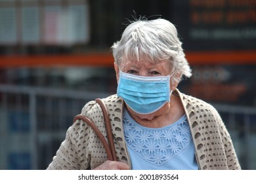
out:
{"label": "beige knit cardigan sleeve left of and between the brown bag straps", "polygon": [[[103,116],[98,108],[95,101],[90,101],[83,107],[81,114],[90,118],[104,134]],[[85,122],[77,120],[68,128],[66,139],[47,169],[94,169],[107,159],[96,133]]]}

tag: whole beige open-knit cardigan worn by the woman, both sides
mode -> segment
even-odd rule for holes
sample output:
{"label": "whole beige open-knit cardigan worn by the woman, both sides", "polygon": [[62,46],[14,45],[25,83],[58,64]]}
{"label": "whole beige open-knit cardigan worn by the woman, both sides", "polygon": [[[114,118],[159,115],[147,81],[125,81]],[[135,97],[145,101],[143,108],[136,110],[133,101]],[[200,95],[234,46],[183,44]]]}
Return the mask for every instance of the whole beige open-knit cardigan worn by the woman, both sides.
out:
{"label": "whole beige open-knit cardigan worn by the woman, both sides", "polygon": [[[175,90],[175,93],[181,98],[188,118],[199,168],[241,169],[230,135],[217,110],[179,90]],[[117,95],[111,95],[103,101],[112,124],[117,159],[128,163],[132,168],[123,133],[123,100]],[[106,136],[103,114],[95,101],[87,103],[81,114],[93,120]],[[77,120],[68,128],[66,139],[47,169],[94,169],[107,159],[104,147],[95,132],[85,122]]]}

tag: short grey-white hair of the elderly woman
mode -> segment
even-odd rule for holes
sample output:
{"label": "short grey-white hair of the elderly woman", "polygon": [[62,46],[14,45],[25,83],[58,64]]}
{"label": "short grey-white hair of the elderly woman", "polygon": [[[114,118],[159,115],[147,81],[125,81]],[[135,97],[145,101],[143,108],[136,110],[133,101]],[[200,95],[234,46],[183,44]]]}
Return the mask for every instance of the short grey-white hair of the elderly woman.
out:
{"label": "short grey-white hair of the elderly woman", "polygon": [[173,68],[173,82],[180,82],[182,76],[192,75],[175,25],[162,18],[140,18],[131,22],[123,31],[121,40],[111,48],[117,65],[125,59],[146,59],[152,63],[169,60]]}

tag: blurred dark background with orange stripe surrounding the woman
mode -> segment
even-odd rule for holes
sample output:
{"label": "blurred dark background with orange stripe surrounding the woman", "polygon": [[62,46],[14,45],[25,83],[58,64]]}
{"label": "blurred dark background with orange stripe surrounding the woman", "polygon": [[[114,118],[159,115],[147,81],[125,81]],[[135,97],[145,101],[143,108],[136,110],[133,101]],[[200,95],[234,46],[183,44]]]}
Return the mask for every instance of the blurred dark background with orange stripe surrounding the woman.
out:
{"label": "blurred dark background with orange stripe surrounding the woman", "polygon": [[110,46],[133,17],[177,26],[242,169],[256,169],[256,1],[0,0],[0,169],[46,169],[87,101],[116,93]]}

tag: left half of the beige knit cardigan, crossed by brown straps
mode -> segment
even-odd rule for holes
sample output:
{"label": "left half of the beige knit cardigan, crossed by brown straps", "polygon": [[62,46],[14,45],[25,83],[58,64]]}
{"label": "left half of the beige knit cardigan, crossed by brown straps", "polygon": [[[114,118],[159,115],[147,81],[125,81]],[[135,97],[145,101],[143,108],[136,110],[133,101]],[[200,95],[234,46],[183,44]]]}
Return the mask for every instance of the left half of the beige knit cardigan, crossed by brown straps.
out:
{"label": "left half of the beige knit cardigan, crossed by brown straps", "polygon": [[[125,146],[122,124],[122,101],[117,95],[103,99],[112,125],[112,133],[116,147],[117,161],[123,161],[131,167],[129,155]],[[105,136],[104,116],[95,101],[89,101],[81,110]],[[53,161],[47,169],[95,169],[108,160],[106,150],[95,131],[85,122],[77,120],[66,132],[66,139],[60,145]]]}

